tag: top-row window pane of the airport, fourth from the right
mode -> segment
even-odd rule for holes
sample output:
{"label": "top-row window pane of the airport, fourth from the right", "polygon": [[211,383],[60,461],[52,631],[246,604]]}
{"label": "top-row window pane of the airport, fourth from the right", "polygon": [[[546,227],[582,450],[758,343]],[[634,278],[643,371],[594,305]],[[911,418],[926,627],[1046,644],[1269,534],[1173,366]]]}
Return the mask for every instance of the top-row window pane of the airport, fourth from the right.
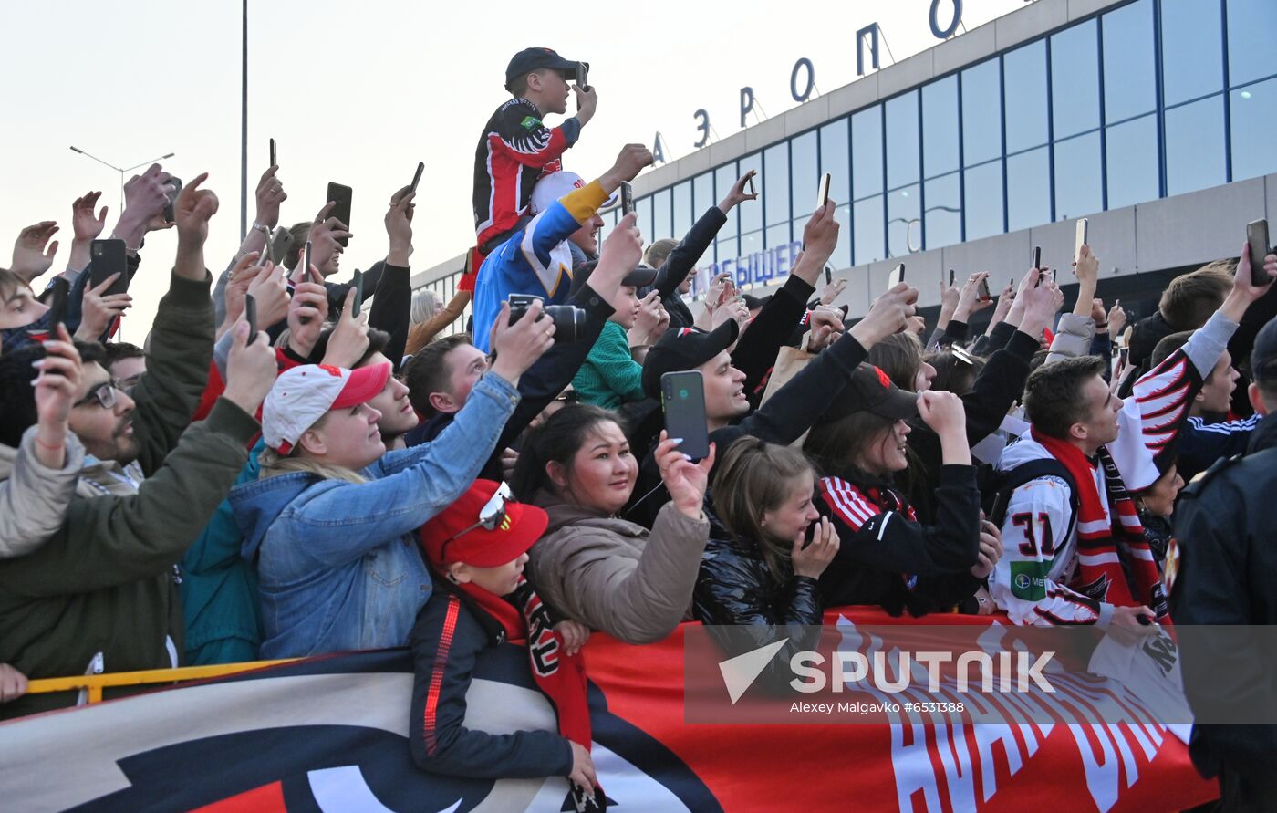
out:
{"label": "top-row window pane of the airport, fourth from the right", "polygon": [[[1098,26],[1092,19],[1051,37],[1052,138],[1068,138],[1099,127],[1097,29]],[[1056,171],[1056,178],[1059,176]]]}

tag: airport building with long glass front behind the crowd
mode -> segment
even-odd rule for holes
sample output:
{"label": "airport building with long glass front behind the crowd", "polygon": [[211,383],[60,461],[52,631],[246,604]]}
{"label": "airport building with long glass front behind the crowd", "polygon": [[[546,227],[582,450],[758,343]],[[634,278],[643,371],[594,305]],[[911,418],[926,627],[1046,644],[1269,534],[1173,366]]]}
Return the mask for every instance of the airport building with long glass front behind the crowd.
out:
{"label": "airport building with long glass front behind the crowd", "polygon": [[[730,271],[765,293],[829,173],[854,317],[900,262],[923,307],[950,268],[997,290],[1034,247],[1068,283],[1087,217],[1099,294],[1145,316],[1172,276],[1277,219],[1273,32],[1274,0],[1036,0],[644,173],[638,224],[678,238],[756,169],[759,203],[733,211],[700,280]],[[464,248],[415,286],[447,300]]]}

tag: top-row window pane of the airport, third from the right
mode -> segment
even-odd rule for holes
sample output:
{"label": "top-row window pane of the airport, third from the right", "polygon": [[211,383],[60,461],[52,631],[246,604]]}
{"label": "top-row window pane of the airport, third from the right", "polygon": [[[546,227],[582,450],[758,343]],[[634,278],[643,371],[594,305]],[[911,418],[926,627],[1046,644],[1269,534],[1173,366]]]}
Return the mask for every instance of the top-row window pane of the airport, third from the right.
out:
{"label": "top-row window pane of the airport, third from the right", "polygon": [[1152,112],[1157,107],[1153,0],[1105,14],[1103,41],[1105,120],[1114,124]]}

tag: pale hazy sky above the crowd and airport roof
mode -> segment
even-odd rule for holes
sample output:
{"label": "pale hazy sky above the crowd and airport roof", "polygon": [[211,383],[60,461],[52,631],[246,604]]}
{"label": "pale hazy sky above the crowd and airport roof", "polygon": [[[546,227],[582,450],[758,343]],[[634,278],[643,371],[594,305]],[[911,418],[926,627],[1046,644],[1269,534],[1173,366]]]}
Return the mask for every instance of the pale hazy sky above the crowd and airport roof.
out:
{"label": "pale hazy sky above the crowd and airport roof", "polygon": [[[963,23],[976,28],[1024,3],[969,0]],[[939,5],[945,24],[953,4]],[[241,4],[43,0],[5,6],[0,265],[8,265],[23,226],[56,220],[63,230],[54,268],[64,267],[70,205],[88,190],[103,192],[109,236],[119,216],[120,175],[72,152],[74,144],[116,166],[172,152],[165,169],[179,178],[207,171],[206,188],[217,192],[221,208],[206,258],[220,272],[239,247]],[[854,32],[872,22],[882,29],[884,66],[891,56],[903,60],[939,43],[928,23],[931,0],[649,0],[564,6],[544,20],[535,4],[450,4],[446,13],[441,6],[250,0],[248,216],[272,137],[289,193],[281,224],[312,219],[329,180],[352,187],[354,238],[337,280],[384,257],[389,196],[412,179],[418,161],[425,174],[414,217],[414,272],[470,245],[475,144],[507,98],[506,64],[524,47],[552,47],[590,63],[599,107],[564,167],[593,178],[622,144],[651,147],[658,132],[667,160],[690,155],[700,138],[699,109],[709,112],[719,138],[738,132],[742,86],[753,87],[767,115],[794,107],[789,77],[799,58],[815,64],[820,92],[852,82]],[[167,290],[175,247],[172,230],[148,239],[130,289],[125,340],[140,344]]]}

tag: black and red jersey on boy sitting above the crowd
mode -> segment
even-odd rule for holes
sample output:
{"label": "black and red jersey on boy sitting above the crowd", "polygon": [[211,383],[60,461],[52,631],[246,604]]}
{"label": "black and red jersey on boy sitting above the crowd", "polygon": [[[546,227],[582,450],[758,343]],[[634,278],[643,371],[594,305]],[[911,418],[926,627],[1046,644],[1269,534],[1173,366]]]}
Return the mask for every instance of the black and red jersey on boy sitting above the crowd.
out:
{"label": "black and red jersey on boy sitting above the crowd", "polygon": [[559,156],[581,136],[581,123],[568,119],[555,128],[526,98],[511,98],[488,119],[475,148],[475,244],[512,230],[527,212],[536,179],[563,169]]}

